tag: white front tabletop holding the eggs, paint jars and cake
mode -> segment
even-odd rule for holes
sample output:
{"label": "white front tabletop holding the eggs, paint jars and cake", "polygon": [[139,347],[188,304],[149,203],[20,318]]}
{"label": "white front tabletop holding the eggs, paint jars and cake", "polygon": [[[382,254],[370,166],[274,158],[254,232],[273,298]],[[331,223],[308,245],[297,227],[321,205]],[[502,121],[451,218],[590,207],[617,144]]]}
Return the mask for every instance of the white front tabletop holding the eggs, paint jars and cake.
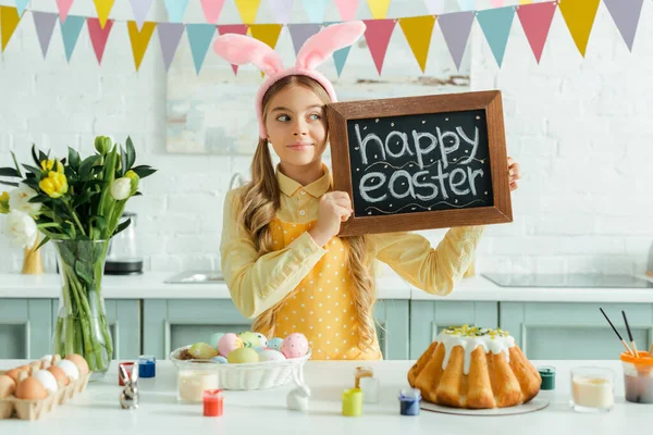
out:
{"label": "white front tabletop holding the eggs, paint jars and cake", "polygon": [[[0,370],[24,364],[25,360],[0,360]],[[636,434],[646,433],[653,405],[626,402],[619,361],[533,361],[553,365],[555,389],[539,397],[550,405],[535,412],[502,417],[469,417],[421,410],[417,417],[399,413],[397,394],[408,387],[406,373],[411,361],[366,362],[381,383],[378,403],[364,405],[359,418],[341,414],[341,394],[354,383],[356,361],[308,361],[305,381],[311,389],[309,412],[289,411],[286,395],[294,384],[258,391],[225,391],[224,414],[202,417],[202,406],[176,402],[176,372],[170,361],[157,362],[157,377],[140,380],[140,406],[122,410],[118,396],[115,361],[107,376],[89,383],[87,389],[58,407],[39,421],[0,421],[3,434],[87,435],[87,434]],[[611,368],[616,373],[615,407],[605,414],[582,414],[569,408],[569,370],[576,365]],[[147,381],[147,382],[146,382]]]}

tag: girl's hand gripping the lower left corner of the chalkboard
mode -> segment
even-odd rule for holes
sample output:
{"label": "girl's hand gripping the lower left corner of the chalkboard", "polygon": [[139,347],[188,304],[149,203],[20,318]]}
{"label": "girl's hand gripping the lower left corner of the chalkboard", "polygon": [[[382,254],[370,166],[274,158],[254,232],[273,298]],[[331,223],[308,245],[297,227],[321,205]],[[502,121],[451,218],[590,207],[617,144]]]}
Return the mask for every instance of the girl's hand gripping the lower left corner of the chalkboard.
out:
{"label": "girl's hand gripping the lower left corner of the chalkboard", "polygon": [[344,191],[330,191],[320,198],[318,222],[308,233],[316,244],[324,246],[340,233],[340,225],[354,213],[352,199]]}

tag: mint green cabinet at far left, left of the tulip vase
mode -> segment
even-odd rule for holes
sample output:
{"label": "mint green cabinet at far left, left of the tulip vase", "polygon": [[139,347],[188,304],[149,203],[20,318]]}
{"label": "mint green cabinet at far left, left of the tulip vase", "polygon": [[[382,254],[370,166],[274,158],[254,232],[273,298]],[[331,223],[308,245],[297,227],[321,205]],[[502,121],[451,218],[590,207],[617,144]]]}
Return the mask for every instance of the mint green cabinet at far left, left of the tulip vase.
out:
{"label": "mint green cabinet at far left, left of the tulip vase", "polygon": [[50,299],[0,300],[0,359],[38,359],[52,337]]}

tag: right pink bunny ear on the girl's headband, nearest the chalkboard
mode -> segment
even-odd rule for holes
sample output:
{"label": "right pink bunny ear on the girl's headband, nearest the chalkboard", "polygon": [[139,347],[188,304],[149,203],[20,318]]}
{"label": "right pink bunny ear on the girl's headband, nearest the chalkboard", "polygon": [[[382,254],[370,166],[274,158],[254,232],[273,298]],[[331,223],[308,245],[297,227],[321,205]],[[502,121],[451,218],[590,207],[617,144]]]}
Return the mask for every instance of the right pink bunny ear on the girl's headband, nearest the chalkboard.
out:
{"label": "right pink bunny ear on the girl's headband, nearest the chalkboard", "polygon": [[315,70],[334,51],[356,42],[365,33],[366,25],[361,21],[333,24],[315,34],[304,42],[297,53],[296,66]]}

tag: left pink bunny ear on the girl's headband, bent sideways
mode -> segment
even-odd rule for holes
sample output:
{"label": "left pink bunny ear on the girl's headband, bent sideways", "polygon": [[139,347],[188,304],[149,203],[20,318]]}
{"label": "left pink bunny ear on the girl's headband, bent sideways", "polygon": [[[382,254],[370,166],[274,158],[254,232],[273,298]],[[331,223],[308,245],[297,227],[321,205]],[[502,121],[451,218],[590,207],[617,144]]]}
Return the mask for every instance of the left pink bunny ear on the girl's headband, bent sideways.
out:
{"label": "left pink bunny ear on the girl's headband, bent sideways", "polygon": [[213,50],[229,63],[234,65],[254,63],[267,75],[283,70],[281,57],[270,46],[248,36],[236,34],[219,36],[213,42]]}

